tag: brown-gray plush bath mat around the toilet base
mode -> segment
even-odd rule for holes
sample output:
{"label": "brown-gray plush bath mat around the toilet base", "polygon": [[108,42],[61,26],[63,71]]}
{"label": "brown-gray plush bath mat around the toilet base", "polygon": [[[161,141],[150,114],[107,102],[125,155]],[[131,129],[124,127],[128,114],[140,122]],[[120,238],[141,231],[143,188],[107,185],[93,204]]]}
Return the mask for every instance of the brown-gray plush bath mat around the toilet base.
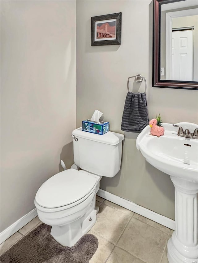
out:
{"label": "brown-gray plush bath mat around the toilet base", "polygon": [[98,240],[84,235],[73,247],[63,247],[51,235],[51,226],[41,224],[1,256],[1,263],[88,263]]}

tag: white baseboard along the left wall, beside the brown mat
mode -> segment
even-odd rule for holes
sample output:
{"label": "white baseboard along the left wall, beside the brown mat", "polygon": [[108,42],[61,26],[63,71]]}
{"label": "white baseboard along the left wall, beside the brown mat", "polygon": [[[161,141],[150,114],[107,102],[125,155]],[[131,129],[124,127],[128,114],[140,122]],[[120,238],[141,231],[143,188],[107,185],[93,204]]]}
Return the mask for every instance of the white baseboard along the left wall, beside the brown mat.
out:
{"label": "white baseboard along the left wall, beside the brown mat", "polygon": [[9,226],[5,230],[3,230],[0,233],[0,243],[4,242],[11,235],[15,234],[19,229],[21,229],[23,226],[28,224],[36,216],[37,216],[37,209],[34,208],[28,214],[24,215],[19,220],[17,220],[15,223],[13,223],[11,226]]}

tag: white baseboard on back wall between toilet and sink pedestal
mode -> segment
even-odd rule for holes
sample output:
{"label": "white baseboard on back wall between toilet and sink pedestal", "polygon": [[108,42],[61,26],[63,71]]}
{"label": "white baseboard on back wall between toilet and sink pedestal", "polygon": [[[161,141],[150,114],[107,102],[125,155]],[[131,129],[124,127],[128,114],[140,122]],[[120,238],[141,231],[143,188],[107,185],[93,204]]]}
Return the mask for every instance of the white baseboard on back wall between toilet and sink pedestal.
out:
{"label": "white baseboard on back wall between toilet and sink pedestal", "polygon": [[113,195],[107,191],[104,191],[102,189],[99,189],[98,192],[97,192],[97,195],[102,197],[102,198],[105,198],[106,200],[108,201],[111,201],[115,204],[118,204],[124,208],[127,208],[128,210],[131,210],[133,211],[134,213],[137,213],[143,217],[147,217],[163,226],[166,226],[172,230],[175,230],[175,221],[168,218],[168,217],[165,217],[165,216],[162,216],[160,214],[157,214],[147,208],[144,208],[138,204],[135,204],[127,199],[124,199],[122,197],[119,197],[117,195]]}

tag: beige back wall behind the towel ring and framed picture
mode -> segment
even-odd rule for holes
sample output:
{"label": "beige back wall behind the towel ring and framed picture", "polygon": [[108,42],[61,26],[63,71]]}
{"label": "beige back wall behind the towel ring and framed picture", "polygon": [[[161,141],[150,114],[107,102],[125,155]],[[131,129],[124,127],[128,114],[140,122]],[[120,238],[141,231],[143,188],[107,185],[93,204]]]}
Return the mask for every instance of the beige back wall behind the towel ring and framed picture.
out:
{"label": "beige back wall behind the towel ring and framed picture", "polygon": [[[122,12],[122,45],[90,46],[91,16],[116,12]],[[123,133],[127,78],[136,74],[147,80],[150,119],[161,113],[164,122],[198,122],[197,91],[152,87],[152,2],[77,1],[77,127],[98,109],[110,122],[111,131]],[[114,178],[102,178],[100,187],[174,218],[170,176],[147,163],[137,151],[138,134],[124,135],[122,168]]]}

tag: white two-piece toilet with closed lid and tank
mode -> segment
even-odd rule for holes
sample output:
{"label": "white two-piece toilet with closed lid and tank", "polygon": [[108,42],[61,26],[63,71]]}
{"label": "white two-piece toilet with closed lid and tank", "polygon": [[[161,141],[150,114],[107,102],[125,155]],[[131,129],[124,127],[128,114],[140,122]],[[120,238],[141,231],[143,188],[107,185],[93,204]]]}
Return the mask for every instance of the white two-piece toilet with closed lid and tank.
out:
{"label": "white two-piece toilet with closed lid and tank", "polygon": [[76,169],[49,178],[34,200],[39,219],[52,226],[50,234],[58,243],[68,247],[95,224],[100,180],[102,176],[114,177],[120,170],[124,135],[92,134],[79,128],[72,132],[72,137]]}

